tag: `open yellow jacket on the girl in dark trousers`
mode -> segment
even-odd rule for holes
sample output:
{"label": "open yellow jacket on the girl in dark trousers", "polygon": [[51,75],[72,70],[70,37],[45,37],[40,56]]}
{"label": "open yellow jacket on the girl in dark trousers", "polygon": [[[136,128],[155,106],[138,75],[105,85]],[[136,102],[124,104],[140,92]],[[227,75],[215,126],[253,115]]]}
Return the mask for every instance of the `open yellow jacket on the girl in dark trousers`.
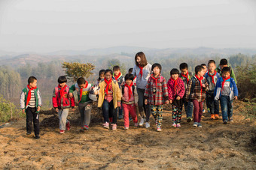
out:
{"label": "open yellow jacket on the girl in dark trousers", "polygon": [[[112,89],[113,89],[113,104],[114,109],[117,108],[117,101],[121,100],[121,91],[117,81],[112,80]],[[105,81],[99,83],[99,99],[98,99],[98,107],[102,107],[104,98],[105,98]]]}

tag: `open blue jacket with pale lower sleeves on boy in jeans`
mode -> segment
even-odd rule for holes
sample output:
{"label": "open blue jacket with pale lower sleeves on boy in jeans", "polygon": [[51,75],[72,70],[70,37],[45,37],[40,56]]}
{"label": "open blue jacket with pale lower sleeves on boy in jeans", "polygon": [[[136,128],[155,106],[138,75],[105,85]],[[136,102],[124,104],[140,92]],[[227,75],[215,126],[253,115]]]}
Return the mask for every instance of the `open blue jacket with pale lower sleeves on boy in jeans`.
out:
{"label": "open blue jacket with pale lower sleeves on boy in jeans", "polygon": [[[221,83],[223,82],[223,78],[220,77],[217,81],[215,87],[215,100],[218,100],[221,97]],[[233,78],[230,78],[230,100],[233,100],[233,97],[238,96],[238,90],[236,87],[236,82]]]}

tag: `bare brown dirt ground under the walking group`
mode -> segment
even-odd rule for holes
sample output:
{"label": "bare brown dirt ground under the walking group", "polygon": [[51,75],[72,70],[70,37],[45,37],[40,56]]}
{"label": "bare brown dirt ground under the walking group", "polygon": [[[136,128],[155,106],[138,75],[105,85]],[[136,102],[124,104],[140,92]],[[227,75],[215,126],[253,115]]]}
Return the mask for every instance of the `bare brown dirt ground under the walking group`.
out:
{"label": "bare brown dirt ground under the walking group", "polygon": [[[102,128],[93,115],[90,130],[80,133],[78,112],[69,114],[72,128],[59,134],[58,118],[41,112],[41,139],[26,136],[26,120],[0,128],[0,169],[256,169],[256,126],[234,106],[233,124],[203,116],[203,128],[192,127],[182,114],[181,128],[163,114],[163,131],[151,127]],[[94,110],[94,113],[96,111]]]}

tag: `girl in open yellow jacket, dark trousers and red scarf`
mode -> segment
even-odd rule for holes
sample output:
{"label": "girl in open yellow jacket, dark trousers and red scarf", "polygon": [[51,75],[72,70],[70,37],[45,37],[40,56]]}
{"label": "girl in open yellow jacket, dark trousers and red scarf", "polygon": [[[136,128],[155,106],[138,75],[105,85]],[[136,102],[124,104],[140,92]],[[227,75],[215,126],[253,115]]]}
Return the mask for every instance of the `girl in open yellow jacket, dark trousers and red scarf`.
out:
{"label": "girl in open yellow jacket, dark trousers and red scarf", "polygon": [[105,70],[105,79],[99,83],[98,107],[102,107],[104,124],[103,127],[109,129],[108,112],[113,116],[111,122],[112,130],[117,130],[117,106],[120,107],[121,92],[117,81],[112,79],[112,70]]}

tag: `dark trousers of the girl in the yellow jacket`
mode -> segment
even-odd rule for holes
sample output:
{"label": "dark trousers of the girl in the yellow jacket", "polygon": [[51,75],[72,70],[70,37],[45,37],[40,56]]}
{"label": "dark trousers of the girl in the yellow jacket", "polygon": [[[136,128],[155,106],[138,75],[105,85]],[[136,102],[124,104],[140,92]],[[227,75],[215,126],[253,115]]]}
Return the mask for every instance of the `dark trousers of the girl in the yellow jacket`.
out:
{"label": "dark trousers of the girl in the yellow jacket", "polygon": [[111,117],[113,118],[113,121],[111,123],[117,124],[117,112],[116,112],[116,109],[114,109],[113,100],[111,100],[110,103],[108,103],[107,100],[103,101],[102,113],[103,113],[104,122],[109,122],[108,114],[110,114]]}

